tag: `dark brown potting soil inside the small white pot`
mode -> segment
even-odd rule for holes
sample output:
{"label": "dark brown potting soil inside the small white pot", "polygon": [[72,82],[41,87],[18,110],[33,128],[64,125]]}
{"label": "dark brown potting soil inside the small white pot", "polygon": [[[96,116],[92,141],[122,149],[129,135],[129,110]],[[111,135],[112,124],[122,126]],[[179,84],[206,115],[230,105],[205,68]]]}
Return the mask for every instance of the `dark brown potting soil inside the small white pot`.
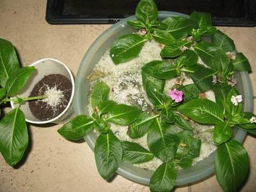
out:
{"label": "dark brown potting soil inside the small white pot", "polygon": [[39,120],[53,119],[65,110],[69,103],[72,93],[72,83],[67,77],[61,74],[50,74],[42,78],[35,84],[30,97],[45,95],[47,90],[54,87],[63,93],[60,104],[57,106],[52,107],[44,99],[29,101],[29,108],[32,114]]}

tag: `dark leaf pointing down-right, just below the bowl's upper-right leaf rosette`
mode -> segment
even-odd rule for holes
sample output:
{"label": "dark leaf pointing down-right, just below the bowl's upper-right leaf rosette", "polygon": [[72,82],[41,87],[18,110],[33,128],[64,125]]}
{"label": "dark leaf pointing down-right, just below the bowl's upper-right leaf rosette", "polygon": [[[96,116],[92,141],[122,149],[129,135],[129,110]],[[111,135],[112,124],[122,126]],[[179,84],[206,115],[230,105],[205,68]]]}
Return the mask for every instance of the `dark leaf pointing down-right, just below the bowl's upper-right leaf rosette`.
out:
{"label": "dark leaf pointing down-right, just below the bowl's upper-right leaf rosette", "polygon": [[208,67],[212,68],[212,59],[215,57],[215,53],[220,48],[215,46],[214,44],[211,44],[209,42],[200,41],[195,46],[195,51],[199,55],[199,57],[202,59],[202,61],[207,65]]}

